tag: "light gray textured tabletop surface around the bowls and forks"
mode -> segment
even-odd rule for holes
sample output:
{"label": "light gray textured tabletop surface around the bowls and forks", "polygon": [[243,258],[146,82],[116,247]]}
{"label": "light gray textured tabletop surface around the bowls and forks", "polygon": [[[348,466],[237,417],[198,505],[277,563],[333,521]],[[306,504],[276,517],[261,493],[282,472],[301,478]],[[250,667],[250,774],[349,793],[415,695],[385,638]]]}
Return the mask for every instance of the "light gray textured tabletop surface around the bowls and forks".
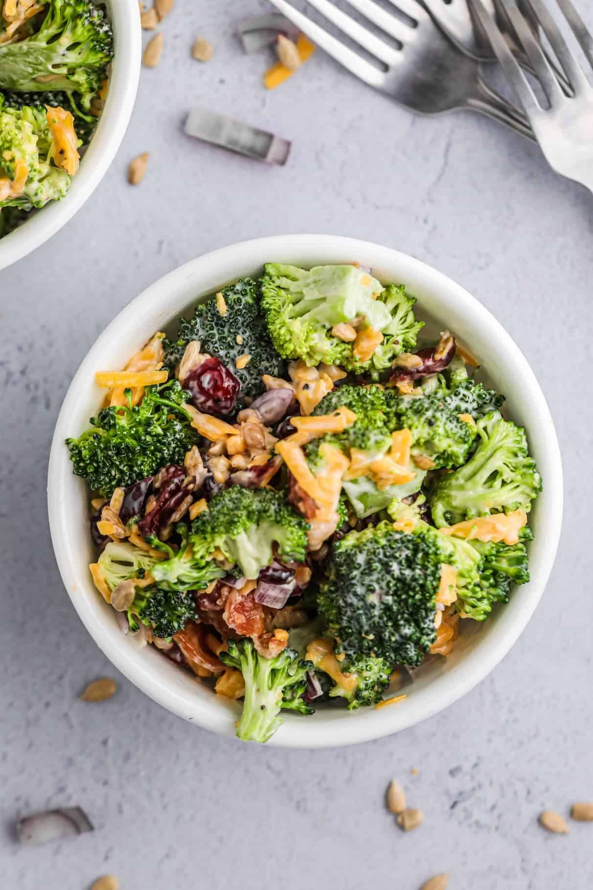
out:
{"label": "light gray textured tabletop surface around the bowls and forks", "polygon": [[[49,244],[0,275],[0,885],[87,890],[112,871],[123,890],[417,890],[449,870],[452,890],[584,890],[593,829],[573,823],[557,837],[536,818],[593,797],[583,546],[593,494],[593,198],[514,134],[469,114],[412,117],[320,52],[266,93],[268,60],[244,57],[233,36],[236,20],[265,8],[177,0],[163,62],[143,71],[100,188]],[[198,33],[215,45],[209,65],[189,58]],[[290,163],[271,169],[189,140],[180,121],[196,103],[292,138]],[[149,171],[132,189],[125,166],[144,150]],[[531,361],[565,457],[556,568],[513,651],[445,713],[336,751],[221,740],[123,677],[114,699],[80,702],[88,681],[116,671],[63,590],[44,504],[60,402],[116,312],[214,247],[299,231],[397,247],[477,295]],[[410,835],[383,809],[394,775],[425,814]],[[14,843],[17,815],[72,804],[90,813],[94,833],[37,849]]]}

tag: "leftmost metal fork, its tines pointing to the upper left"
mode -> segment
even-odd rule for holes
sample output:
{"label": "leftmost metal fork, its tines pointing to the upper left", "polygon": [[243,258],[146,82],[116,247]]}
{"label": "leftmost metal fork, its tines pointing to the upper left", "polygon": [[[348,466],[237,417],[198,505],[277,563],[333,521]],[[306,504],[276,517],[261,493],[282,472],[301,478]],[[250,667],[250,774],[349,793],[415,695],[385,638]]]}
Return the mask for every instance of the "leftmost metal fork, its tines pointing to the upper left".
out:
{"label": "leftmost metal fork, its tines pointing to the upper left", "polygon": [[394,37],[401,49],[387,44],[330,0],[309,0],[327,20],[382,62],[384,71],[375,68],[286,0],[271,2],[344,68],[400,105],[421,114],[440,114],[454,109],[479,111],[533,139],[533,132],[521,112],[485,85],[479,62],[461,53],[417,0],[389,0],[395,9],[415,22],[415,27],[381,9],[373,0],[349,0],[367,20]]}

